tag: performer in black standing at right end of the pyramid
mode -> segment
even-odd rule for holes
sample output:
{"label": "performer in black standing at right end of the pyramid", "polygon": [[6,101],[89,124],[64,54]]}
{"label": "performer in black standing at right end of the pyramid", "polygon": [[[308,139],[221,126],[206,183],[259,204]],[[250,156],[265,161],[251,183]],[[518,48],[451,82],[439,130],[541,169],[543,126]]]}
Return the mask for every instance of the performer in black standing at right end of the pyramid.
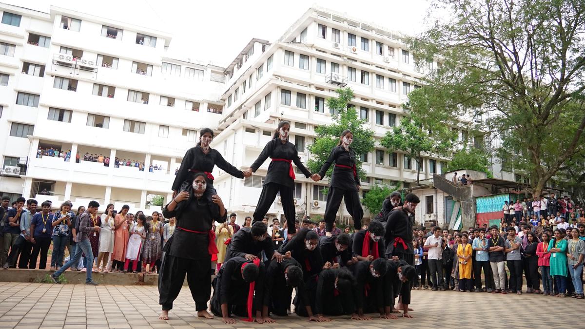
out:
{"label": "performer in black standing at right end of the pyramid", "polygon": [[[414,247],[412,246],[412,227],[414,226],[414,210],[421,202],[417,196],[409,193],[400,210],[390,211],[387,214],[386,234],[386,258],[402,259],[409,265],[414,265]],[[401,301],[398,302],[398,310],[404,311],[402,316],[412,318],[408,314],[410,304],[411,283],[402,285],[400,291]]]}

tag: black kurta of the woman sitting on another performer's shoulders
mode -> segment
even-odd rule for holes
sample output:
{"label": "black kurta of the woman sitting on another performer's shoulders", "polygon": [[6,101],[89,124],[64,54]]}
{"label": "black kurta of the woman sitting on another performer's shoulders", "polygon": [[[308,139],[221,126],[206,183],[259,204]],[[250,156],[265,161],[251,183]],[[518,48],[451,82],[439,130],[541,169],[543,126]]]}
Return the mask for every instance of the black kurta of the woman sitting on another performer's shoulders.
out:
{"label": "black kurta of the woman sitting on another performer's shoulders", "polygon": [[[189,171],[190,169],[211,173],[214,170],[214,166],[218,166],[219,169],[234,177],[244,178],[242,170],[230,165],[217,150],[209,148],[209,152],[205,154],[200,146],[195,146],[185,153],[179,172],[173,182],[173,190],[178,191],[185,180],[191,180],[192,173]],[[214,181],[207,179],[207,184],[213,185]]]}

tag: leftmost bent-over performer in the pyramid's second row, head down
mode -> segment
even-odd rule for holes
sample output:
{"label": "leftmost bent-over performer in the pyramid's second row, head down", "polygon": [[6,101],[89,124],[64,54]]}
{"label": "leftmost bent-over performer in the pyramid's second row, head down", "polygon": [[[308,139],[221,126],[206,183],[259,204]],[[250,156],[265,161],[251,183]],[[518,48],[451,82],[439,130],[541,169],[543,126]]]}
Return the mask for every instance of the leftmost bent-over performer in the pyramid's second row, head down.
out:
{"label": "leftmost bent-over performer in the pyramid's second row, head down", "polygon": [[250,229],[240,229],[232,236],[224,261],[232,257],[242,257],[253,261],[262,258],[261,252],[264,251],[269,260],[276,258],[278,262],[282,262],[283,256],[274,250],[274,244],[268,238],[267,229],[263,222],[254,222]]}

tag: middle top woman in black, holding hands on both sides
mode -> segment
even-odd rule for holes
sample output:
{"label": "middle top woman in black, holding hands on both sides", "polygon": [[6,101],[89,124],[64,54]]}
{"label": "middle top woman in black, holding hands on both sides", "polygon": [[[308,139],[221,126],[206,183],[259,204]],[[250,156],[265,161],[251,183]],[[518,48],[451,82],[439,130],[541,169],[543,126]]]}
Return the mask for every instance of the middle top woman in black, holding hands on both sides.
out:
{"label": "middle top woman in black, holding hands on both sides", "polygon": [[295,208],[294,208],[294,180],[295,174],[292,163],[305,174],[305,177],[311,177],[311,173],[302,164],[298,157],[297,148],[293,143],[288,142],[290,132],[290,122],[281,121],[274,132],[273,139],[264,146],[264,149],[254,161],[252,166],[246,170],[247,175],[252,175],[266,161],[268,157],[272,159],[260,199],[254,211],[254,222],[262,221],[267,211],[274,202],[277,193],[280,191],[280,200],[283,204],[284,217],[287,218],[288,234],[294,234],[295,229]]}

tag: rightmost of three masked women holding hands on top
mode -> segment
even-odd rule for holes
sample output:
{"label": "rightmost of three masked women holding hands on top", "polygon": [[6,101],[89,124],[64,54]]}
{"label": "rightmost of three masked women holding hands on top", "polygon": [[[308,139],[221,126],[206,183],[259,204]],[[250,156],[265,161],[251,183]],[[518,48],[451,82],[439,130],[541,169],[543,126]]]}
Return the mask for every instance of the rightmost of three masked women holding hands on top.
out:
{"label": "rightmost of three masked women holding hands on top", "polygon": [[360,190],[360,179],[356,170],[356,153],[349,147],[352,140],[352,132],[349,130],[343,131],[338,145],[331,150],[331,154],[321,167],[321,171],[313,177],[314,181],[323,179],[329,167],[335,162],[331,180],[329,181],[329,193],[327,194],[327,205],[325,207],[325,230],[328,237],[331,237],[333,222],[342,198],[345,200],[347,211],[353,217],[353,226],[356,231],[362,228],[364,211],[360,204],[360,197],[357,194]]}

